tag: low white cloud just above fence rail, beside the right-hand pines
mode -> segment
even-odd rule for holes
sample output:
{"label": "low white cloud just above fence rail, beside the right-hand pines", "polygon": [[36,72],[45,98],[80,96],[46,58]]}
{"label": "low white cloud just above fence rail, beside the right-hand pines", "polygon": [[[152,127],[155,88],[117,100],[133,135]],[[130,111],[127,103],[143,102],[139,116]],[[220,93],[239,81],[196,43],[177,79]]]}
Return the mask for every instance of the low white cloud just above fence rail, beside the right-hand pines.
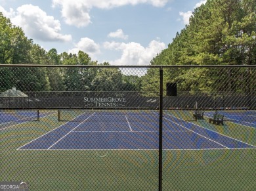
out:
{"label": "low white cloud just above fence rail, beside the right-hand pines", "polygon": [[121,58],[110,62],[114,65],[150,65],[150,61],[156,54],[165,49],[165,43],[153,40],[149,43],[148,47],[143,47],[139,43],[117,43],[106,42],[104,43],[105,49],[114,49],[121,51]]}

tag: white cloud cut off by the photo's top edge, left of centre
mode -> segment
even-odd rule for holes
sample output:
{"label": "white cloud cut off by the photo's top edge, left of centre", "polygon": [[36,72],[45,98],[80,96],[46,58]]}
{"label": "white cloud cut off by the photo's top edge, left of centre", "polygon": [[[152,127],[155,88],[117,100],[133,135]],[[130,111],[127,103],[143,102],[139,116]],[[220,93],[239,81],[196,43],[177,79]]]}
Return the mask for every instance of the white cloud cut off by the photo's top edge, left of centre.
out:
{"label": "white cloud cut off by the photo's top edge, left of centre", "polygon": [[88,26],[91,23],[89,12],[93,7],[112,9],[125,5],[148,3],[154,7],[163,7],[168,0],[52,0],[53,7],[61,7],[62,17],[66,24],[77,27]]}

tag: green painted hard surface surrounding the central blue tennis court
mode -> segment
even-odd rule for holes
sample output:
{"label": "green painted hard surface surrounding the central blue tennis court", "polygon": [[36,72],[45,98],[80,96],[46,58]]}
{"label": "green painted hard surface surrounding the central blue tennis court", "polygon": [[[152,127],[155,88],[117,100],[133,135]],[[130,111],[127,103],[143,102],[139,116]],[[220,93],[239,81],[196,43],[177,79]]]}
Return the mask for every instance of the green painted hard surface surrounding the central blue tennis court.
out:
{"label": "green painted hard surface surrounding the central blue tennis court", "polygon": [[[253,128],[192,121],[256,145]],[[157,150],[16,150],[64,122],[57,113],[0,131],[1,181],[25,181],[30,190],[158,190]],[[181,137],[182,138],[182,137]],[[256,149],[163,150],[163,190],[256,190]]]}

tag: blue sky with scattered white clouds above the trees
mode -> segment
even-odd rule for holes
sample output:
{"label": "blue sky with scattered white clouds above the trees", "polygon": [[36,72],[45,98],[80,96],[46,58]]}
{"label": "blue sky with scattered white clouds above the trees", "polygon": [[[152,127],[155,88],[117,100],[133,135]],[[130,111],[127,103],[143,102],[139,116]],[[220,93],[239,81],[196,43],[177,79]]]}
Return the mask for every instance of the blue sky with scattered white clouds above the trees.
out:
{"label": "blue sky with scattered white clouds above the trees", "polygon": [[150,65],[206,0],[0,0],[0,12],[45,50],[99,63]]}

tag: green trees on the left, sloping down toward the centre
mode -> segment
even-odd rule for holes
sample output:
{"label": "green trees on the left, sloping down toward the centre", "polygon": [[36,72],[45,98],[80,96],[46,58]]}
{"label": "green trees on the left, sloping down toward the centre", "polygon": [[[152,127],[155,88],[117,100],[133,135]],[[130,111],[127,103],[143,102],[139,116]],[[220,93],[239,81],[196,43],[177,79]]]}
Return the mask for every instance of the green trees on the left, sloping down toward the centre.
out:
{"label": "green trees on the left, sloping down toward the centre", "polygon": [[[0,63],[38,65],[110,65],[93,61],[87,53],[46,51],[28,39],[22,28],[0,12]],[[20,91],[139,91],[140,77],[118,68],[0,68],[0,92]]]}

